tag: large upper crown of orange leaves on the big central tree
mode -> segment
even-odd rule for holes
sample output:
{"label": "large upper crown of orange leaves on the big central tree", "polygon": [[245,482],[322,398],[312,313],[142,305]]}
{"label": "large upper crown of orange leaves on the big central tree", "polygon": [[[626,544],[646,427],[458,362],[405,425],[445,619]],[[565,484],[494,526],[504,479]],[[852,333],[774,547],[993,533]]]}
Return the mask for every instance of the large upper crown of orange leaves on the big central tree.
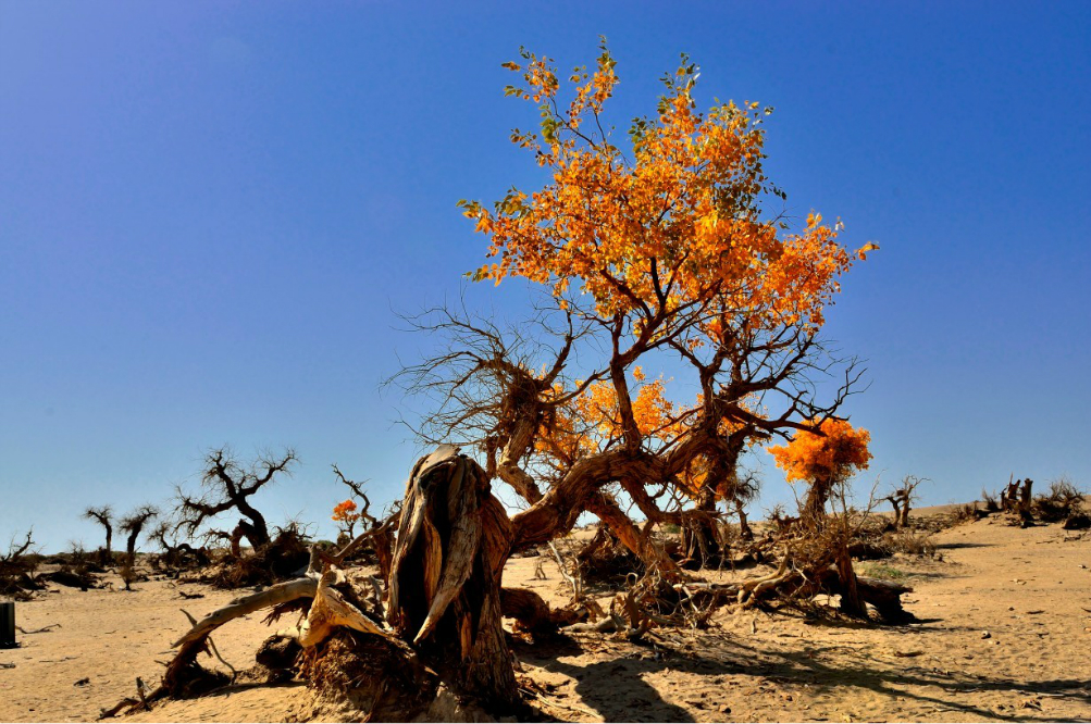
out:
{"label": "large upper crown of orange leaves on the big central tree", "polygon": [[[472,274],[499,283],[509,276],[589,294],[609,318],[710,304],[746,314],[751,328],[822,326],[838,278],[855,258],[836,242],[838,227],[812,214],[799,234],[780,236],[759,202],[782,195],[763,170],[764,117],[757,102],[696,110],[697,67],[667,76],[658,113],[634,122],[631,154],[613,144],[601,119],[618,83],[606,47],[588,71],[568,76],[567,108],[552,61],[521,51],[523,85],[506,92],[539,104],[541,132],[512,141],[535,153],[551,181],[513,190],[492,210],[463,202],[490,239],[494,260]],[[718,330],[704,328],[716,341]],[[699,345],[698,341],[688,341]]]}

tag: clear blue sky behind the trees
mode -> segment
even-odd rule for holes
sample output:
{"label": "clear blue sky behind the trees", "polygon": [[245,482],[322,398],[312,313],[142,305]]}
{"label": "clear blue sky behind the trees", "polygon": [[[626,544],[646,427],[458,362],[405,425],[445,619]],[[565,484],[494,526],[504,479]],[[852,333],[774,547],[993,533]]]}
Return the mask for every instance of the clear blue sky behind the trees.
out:
{"label": "clear blue sky behind the trees", "polygon": [[456,200],[532,179],[500,63],[599,34],[620,124],[685,51],[705,105],[776,107],[790,210],[882,245],[828,326],[868,361],[874,471],[927,503],[1091,484],[1091,3],[3,0],[0,545],[93,547],[83,507],[160,503],[225,443],[297,448],[274,522],[328,534],[331,462],[399,495],[394,311],[480,263]]}

